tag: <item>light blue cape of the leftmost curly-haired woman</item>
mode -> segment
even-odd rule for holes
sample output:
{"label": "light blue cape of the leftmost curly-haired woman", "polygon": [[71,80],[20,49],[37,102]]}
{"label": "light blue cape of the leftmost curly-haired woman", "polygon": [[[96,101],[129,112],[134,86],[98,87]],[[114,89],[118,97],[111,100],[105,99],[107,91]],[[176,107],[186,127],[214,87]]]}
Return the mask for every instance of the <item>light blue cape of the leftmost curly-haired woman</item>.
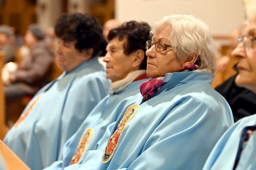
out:
{"label": "light blue cape of the leftmost curly-haired woman", "polygon": [[[77,131],[92,109],[109,94],[110,81],[97,57],[64,72],[42,88],[42,98],[4,143],[32,170],[41,170],[61,159],[64,143]],[[59,157],[59,158],[58,158]]]}

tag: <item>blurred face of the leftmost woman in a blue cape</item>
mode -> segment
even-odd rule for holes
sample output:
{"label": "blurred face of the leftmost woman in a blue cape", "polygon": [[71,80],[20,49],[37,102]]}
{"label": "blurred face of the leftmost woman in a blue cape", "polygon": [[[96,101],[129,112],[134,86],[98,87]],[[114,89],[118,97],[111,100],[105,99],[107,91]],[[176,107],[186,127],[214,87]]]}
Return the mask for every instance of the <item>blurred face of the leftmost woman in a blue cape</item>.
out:
{"label": "blurred face of the leftmost woman in a blue cape", "polygon": [[64,42],[58,38],[55,48],[56,64],[64,71],[70,71],[85,61],[85,56],[75,48],[75,41]]}

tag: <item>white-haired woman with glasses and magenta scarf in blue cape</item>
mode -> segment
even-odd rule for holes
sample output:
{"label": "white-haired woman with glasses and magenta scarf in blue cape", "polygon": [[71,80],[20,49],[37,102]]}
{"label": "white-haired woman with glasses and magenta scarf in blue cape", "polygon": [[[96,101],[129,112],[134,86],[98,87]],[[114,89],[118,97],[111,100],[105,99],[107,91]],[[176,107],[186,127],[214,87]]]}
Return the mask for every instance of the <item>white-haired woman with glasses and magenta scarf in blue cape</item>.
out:
{"label": "white-haired woman with glasses and magenta scarf in blue cape", "polygon": [[152,25],[152,35],[146,42],[151,80],[80,169],[199,170],[233,124],[228,103],[211,87],[217,49],[207,25],[170,15]]}

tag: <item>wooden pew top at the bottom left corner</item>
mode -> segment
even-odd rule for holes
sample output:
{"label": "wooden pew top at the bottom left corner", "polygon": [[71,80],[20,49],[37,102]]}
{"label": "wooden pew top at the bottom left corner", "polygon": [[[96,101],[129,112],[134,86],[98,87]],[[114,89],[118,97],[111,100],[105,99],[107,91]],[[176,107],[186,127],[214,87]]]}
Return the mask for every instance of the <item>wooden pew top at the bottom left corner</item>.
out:
{"label": "wooden pew top at the bottom left corner", "polygon": [[8,170],[31,170],[2,140],[0,140],[0,152]]}

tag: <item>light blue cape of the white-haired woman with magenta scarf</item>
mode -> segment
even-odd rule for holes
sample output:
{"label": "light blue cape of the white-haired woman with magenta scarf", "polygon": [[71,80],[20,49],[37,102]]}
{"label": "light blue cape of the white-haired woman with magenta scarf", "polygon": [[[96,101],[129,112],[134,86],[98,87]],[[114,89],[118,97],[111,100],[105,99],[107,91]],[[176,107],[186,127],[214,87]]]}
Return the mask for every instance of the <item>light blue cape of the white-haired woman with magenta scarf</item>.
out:
{"label": "light blue cape of the white-haired woman with magenta scarf", "polygon": [[207,72],[168,73],[164,80],[169,82],[152,98],[146,102],[140,94],[134,98],[130,106],[138,104],[138,112],[122,131],[110,160],[101,163],[102,153],[125,110],[98,149],[87,153],[79,170],[202,169],[218,139],[234,123],[228,103],[211,87],[213,78]]}

